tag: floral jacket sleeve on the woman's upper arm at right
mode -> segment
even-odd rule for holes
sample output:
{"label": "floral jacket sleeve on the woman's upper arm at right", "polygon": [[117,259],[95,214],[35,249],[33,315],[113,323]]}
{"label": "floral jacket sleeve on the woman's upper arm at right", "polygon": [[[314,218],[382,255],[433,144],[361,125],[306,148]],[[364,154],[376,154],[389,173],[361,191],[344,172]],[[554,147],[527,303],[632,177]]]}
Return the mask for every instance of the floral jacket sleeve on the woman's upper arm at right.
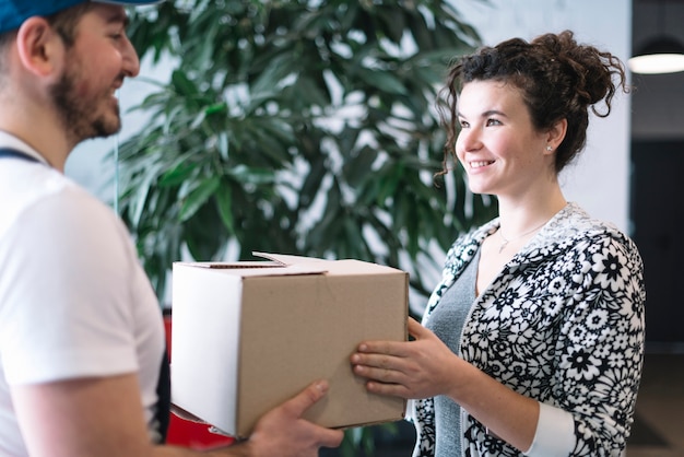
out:
{"label": "floral jacket sleeve on the woman's upper arm at right", "polygon": [[634,243],[615,233],[587,237],[571,254],[553,397],[573,414],[573,456],[617,456],[641,377],[642,262]]}

